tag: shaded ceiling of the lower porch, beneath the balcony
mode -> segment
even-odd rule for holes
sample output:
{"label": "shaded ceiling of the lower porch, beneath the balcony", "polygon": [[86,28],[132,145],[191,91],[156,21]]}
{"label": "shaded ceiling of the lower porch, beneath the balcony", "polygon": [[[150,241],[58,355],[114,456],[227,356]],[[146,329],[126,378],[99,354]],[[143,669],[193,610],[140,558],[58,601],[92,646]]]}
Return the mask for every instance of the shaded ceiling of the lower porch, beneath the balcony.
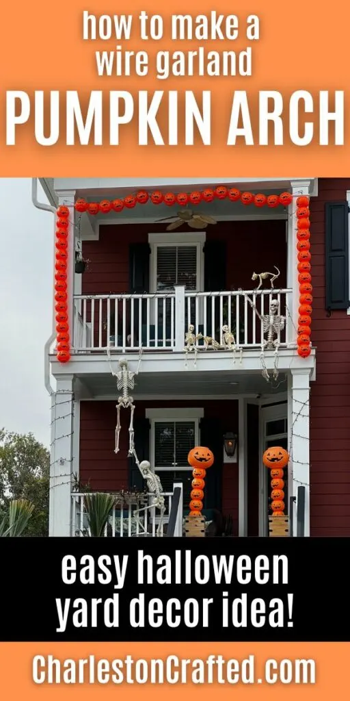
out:
{"label": "shaded ceiling of the lower porch, beneath the balcony", "polygon": [[[79,375],[83,388],[92,397],[116,397],[116,380],[111,375]],[[234,395],[271,395],[287,390],[286,374],[267,383],[260,372],[179,372],[145,373],[136,378],[132,392],[137,397],[232,397]]]}

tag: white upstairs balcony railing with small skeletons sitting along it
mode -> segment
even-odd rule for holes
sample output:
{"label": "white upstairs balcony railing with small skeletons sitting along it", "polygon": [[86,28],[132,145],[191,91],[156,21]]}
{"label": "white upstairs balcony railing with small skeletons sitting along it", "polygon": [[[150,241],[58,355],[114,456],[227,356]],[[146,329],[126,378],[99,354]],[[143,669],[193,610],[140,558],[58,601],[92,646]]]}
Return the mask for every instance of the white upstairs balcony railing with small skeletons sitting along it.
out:
{"label": "white upstairs balcony railing with small skeletons sitting along it", "polygon": [[280,345],[293,343],[290,315],[292,290],[244,290],[235,292],[186,292],[176,287],[162,294],[76,295],[74,297],[73,351],[144,350],[183,351],[190,324],[195,327],[198,346],[203,337],[223,342],[223,325],[235,335],[239,348],[260,348],[262,320],[272,299],[279,301],[279,313],[286,317]]}

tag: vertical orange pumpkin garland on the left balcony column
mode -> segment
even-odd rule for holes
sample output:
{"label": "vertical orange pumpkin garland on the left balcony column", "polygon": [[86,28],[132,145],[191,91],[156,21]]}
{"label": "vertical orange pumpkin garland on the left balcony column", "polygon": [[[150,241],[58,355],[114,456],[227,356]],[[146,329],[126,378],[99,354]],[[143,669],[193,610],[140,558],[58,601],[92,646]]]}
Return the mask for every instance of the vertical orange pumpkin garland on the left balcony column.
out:
{"label": "vertical orange pumpkin garland on the left balcony column", "polygon": [[[77,200],[76,205],[78,204],[78,201],[79,200]],[[69,208],[60,205],[57,207],[56,215],[55,320],[57,332],[57,360],[59,360],[59,362],[69,362],[69,360],[71,360],[67,304]]]}

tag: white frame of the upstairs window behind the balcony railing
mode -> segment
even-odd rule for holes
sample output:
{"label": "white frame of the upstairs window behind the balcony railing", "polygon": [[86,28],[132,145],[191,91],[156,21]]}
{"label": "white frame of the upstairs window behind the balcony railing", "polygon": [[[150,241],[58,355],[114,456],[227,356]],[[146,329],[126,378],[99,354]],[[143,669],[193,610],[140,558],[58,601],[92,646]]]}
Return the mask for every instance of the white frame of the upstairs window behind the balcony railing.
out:
{"label": "white frame of the upstairs window behind the balcony railing", "polygon": [[193,292],[204,291],[204,243],[206,240],[205,231],[196,231],[192,233],[148,233],[148,243],[151,246],[150,257],[150,289],[152,293],[157,292],[157,248],[158,247],[174,247],[174,246],[196,246],[197,247],[197,271],[196,271],[196,290]]}

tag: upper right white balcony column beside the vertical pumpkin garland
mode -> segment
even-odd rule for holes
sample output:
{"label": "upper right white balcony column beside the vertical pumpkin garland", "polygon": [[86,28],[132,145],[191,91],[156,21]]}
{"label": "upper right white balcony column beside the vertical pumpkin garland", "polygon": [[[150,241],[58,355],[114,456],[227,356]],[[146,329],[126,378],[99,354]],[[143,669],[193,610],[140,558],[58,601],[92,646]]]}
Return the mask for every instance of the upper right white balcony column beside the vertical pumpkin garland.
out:
{"label": "upper right white balcony column beside the vertical pumpkin garland", "polygon": [[[288,207],[288,261],[287,261],[287,287],[293,290],[292,299],[289,300],[289,313],[291,316],[287,318],[288,329],[288,345],[295,346],[297,339],[297,318],[299,308],[299,283],[297,280],[297,217],[296,217],[296,200],[300,195],[309,196],[310,181],[293,180],[290,183],[292,186],[293,202]],[[288,317],[288,314],[287,314]]]}

